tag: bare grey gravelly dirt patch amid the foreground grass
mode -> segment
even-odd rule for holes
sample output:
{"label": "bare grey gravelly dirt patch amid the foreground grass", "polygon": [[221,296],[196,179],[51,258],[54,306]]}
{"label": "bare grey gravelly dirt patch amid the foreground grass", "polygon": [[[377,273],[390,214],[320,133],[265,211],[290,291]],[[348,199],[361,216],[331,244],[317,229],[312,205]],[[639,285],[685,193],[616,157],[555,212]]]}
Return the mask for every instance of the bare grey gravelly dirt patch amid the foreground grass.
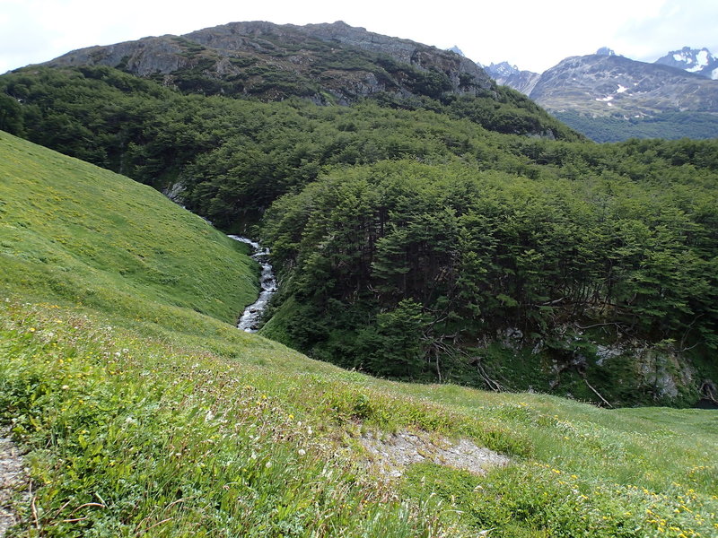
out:
{"label": "bare grey gravelly dirt patch amid the foreground grass", "polygon": [[369,463],[390,477],[401,476],[407,465],[423,461],[475,474],[486,474],[492,467],[503,467],[511,461],[493,450],[478,447],[468,439],[452,442],[425,432],[365,433],[359,441],[370,454]]}

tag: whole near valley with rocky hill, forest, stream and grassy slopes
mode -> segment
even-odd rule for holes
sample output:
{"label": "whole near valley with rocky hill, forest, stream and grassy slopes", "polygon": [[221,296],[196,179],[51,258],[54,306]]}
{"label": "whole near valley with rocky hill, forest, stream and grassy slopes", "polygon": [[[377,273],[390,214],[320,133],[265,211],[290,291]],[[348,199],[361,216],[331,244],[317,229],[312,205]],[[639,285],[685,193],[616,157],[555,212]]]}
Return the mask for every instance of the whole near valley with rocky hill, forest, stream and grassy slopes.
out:
{"label": "whole near valley with rocky hill, forest, stream and grassy slopes", "polygon": [[716,140],[343,23],[74,51],[0,129],[10,535],[718,529]]}

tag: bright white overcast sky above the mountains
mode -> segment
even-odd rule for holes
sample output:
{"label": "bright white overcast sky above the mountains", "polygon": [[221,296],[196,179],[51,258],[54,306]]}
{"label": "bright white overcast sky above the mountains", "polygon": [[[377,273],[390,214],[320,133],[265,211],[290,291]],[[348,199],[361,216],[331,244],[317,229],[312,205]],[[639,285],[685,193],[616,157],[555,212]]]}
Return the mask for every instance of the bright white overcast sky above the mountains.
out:
{"label": "bright white overcast sky above the mountains", "polygon": [[537,72],[603,46],[648,62],[686,45],[718,55],[717,0],[0,0],[0,74],[75,48],[238,21],[344,21]]}

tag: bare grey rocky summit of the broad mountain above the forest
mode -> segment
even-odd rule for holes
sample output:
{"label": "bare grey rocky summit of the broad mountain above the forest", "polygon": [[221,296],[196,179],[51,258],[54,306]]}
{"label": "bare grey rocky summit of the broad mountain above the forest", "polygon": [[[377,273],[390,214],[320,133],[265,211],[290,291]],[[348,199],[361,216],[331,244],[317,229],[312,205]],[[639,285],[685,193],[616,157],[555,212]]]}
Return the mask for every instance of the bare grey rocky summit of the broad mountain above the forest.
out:
{"label": "bare grey rocky summit of the broad mountain above the forest", "polygon": [[378,94],[436,99],[495,90],[468,58],[345,22],[232,22],[183,36],[83,48],[48,65],[109,65],[182,91],[263,100],[300,96],[320,104]]}

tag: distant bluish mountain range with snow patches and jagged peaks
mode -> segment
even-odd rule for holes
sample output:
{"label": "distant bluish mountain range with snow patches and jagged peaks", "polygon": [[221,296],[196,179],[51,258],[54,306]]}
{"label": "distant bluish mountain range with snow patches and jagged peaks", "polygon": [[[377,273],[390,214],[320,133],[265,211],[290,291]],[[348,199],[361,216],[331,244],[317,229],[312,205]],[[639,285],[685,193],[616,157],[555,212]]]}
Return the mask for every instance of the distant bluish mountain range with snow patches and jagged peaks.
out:
{"label": "distant bluish mountain range with snow patches and jagged peaks", "polygon": [[485,69],[594,140],[718,136],[718,59],[707,48],[671,51],[653,64],[604,47],[542,74],[507,62]]}

